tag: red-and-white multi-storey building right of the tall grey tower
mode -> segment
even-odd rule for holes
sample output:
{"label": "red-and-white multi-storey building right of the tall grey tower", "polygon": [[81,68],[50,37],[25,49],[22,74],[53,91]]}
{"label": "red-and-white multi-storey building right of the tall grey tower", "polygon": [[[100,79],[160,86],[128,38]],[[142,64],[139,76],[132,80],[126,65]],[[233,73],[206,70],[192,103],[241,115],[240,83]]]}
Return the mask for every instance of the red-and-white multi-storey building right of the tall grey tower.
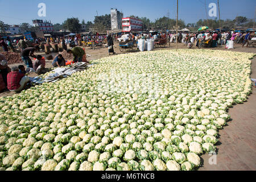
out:
{"label": "red-and-white multi-storey building right of the tall grey tower", "polygon": [[122,18],[123,32],[143,31],[143,22],[135,18]]}

